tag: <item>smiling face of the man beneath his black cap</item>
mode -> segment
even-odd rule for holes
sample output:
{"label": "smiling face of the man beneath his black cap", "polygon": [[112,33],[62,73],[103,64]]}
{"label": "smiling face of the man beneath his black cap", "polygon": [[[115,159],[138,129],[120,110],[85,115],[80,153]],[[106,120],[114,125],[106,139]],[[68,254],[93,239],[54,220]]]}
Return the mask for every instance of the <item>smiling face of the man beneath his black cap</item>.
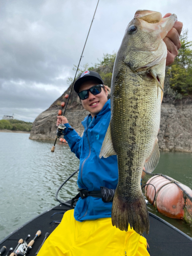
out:
{"label": "smiling face of the man beneath his black cap", "polygon": [[[79,92],[88,90],[93,86],[96,86],[98,82],[86,81],[80,86]],[[81,100],[84,109],[90,112],[91,116],[96,116],[103,108],[104,104],[108,101],[108,92],[101,88],[101,92],[97,95],[93,95],[89,91],[89,97],[87,99]]]}

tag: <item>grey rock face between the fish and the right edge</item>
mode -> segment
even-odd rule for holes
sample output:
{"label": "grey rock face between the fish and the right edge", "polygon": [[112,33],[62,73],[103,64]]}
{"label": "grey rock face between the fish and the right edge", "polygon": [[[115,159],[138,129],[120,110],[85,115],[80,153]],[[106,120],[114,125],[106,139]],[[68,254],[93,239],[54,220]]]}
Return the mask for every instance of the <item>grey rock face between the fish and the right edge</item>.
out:
{"label": "grey rock face between the fish and the right edge", "polygon": [[192,153],[192,100],[163,100],[158,134],[162,151]]}

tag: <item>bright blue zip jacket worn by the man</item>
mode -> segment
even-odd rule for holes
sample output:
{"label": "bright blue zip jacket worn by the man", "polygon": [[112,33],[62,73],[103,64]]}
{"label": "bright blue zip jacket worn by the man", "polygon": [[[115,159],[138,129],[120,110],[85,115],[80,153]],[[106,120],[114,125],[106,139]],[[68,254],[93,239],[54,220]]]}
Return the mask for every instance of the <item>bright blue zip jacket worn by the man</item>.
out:
{"label": "bright blue zip jacket worn by the man", "polygon": [[[68,131],[65,139],[68,141],[71,151],[80,159],[77,184],[79,188],[89,191],[100,190],[100,186],[115,189],[118,183],[117,156],[99,158],[102,142],[108,129],[111,118],[111,106],[108,100],[103,109],[93,118],[90,124],[88,115],[82,121],[84,132],[82,138],[73,131]],[[94,220],[111,217],[112,203],[104,203],[101,198],[79,198],[74,217],[77,221]]]}

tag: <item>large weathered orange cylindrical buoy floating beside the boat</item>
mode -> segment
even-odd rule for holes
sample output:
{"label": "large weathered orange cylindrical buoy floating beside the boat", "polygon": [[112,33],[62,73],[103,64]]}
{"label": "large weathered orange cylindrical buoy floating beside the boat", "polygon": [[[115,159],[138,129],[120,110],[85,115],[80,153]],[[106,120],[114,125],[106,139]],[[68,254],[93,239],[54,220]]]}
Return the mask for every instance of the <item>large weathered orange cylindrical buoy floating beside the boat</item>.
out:
{"label": "large weathered orange cylindrical buoy floating beside the boat", "polygon": [[[147,181],[147,184],[152,184],[156,188],[156,198],[154,206],[157,210],[169,217],[174,219],[183,219],[184,218],[184,205],[187,202],[184,202],[182,187],[189,196],[192,196],[192,190],[186,185],[166,176],[166,179],[163,176],[156,175]],[[179,186],[174,183],[179,184]],[[155,196],[155,189],[152,185],[145,187],[145,196],[149,202],[153,202]],[[191,202],[190,202],[191,203]]]}

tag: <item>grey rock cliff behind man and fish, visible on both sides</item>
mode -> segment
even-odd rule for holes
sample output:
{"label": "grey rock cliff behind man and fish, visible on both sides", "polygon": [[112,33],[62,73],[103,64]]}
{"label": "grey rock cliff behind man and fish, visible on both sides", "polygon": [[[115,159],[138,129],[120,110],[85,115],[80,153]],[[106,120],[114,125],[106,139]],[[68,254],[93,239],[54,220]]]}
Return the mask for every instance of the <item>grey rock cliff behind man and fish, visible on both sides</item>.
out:
{"label": "grey rock cliff behind man and fish, visible on both sides", "polygon": [[[56,120],[60,103],[67,102],[63,93],[48,110],[42,112],[34,121],[30,139],[54,140],[56,135]],[[89,113],[77,102],[74,90],[71,93],[66,117],[71,126],[79,135],[83,132],[81,121]],[[190,152],[192,153],[192,99],[175,100],[164,98],[161,106],[161,123],[158,134],[161,151]]]}

